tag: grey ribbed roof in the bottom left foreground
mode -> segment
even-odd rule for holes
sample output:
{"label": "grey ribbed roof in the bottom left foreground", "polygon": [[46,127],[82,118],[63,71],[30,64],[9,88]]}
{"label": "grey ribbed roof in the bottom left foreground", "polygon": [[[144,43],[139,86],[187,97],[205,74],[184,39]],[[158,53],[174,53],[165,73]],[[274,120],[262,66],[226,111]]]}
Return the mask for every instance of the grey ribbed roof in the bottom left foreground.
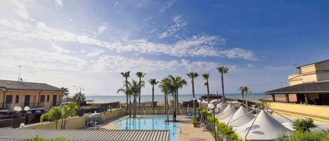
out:
{"label": "grey ribbed roof in the bottom left foreground", "polygon": [[44,138],[65,137],[72,141],[85,140],[139,140],[169,141],[169,130],[86,130],[86,129],[0,129],[0,140],[20,140],[33,138],[36,135]]}

